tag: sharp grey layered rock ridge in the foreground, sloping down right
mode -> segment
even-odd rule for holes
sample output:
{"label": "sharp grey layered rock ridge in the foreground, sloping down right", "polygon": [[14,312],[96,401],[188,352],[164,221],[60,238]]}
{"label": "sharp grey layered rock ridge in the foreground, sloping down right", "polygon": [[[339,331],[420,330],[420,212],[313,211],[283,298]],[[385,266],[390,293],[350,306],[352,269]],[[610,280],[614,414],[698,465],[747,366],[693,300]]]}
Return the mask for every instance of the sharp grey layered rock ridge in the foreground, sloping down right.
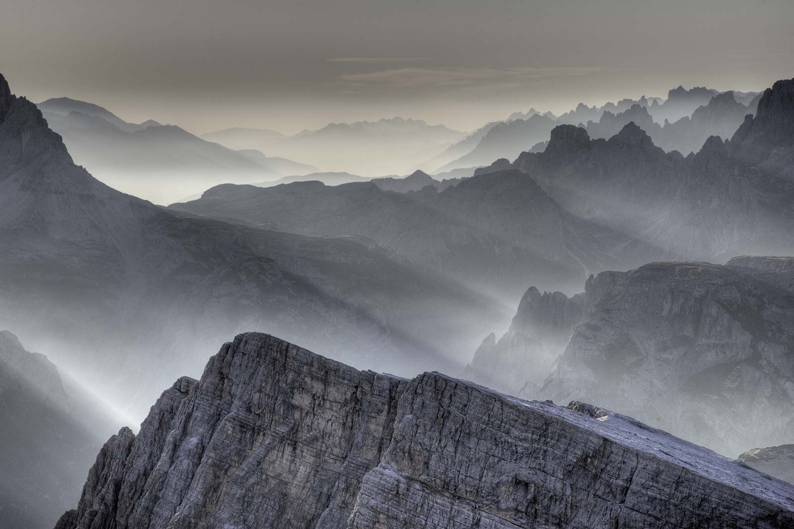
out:
{"label": "sharp grey layered rock ridge in the foreground, sloping down right", "polygon": [[792,524],[792,485],[629,417],[245,333],[106,443],[56,527]]}

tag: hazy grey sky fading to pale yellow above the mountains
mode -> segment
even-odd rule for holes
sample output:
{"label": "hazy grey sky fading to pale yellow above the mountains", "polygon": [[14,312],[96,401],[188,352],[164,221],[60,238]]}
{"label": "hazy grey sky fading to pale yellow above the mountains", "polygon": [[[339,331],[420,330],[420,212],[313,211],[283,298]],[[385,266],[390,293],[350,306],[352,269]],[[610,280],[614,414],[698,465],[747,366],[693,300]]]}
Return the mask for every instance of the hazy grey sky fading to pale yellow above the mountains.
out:
{"label": "hazy grey sky fading to pale yellow above the mountains", "polygon": [[0,71],[34,102],[298,132],[400,115],[761,90],[794,76],[792,0],[0,0]]}

